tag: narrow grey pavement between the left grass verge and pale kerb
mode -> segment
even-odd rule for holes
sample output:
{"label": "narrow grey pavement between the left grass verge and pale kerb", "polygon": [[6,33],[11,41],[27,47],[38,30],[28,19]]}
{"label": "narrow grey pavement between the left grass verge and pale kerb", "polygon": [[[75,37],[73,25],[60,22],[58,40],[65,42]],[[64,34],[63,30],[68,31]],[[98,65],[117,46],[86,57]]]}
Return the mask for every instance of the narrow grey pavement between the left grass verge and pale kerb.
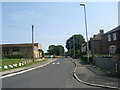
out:
{"label": "narrow grey pavement between the left grass verge and pale kerb", "polygon": [[12,70],[1,72],[1,75],[5,76],[5,75],[12,74],[12,73],[21,72],[21,71],[24,71],[24,70],[28,70],[28,69],[34,68],[36,66],[41,66],[41,65],[49,64],[49,63],[51,63],[53,61],[55,61],[55,59],[47,59],[47,61],[40,62],[40,63],[37,63],[37,64],[33,64],[33,65],[30,65],[30,66],[27,66],[27,67],[21,67],[21,68],[17,68],[17,69],[12,69]]}

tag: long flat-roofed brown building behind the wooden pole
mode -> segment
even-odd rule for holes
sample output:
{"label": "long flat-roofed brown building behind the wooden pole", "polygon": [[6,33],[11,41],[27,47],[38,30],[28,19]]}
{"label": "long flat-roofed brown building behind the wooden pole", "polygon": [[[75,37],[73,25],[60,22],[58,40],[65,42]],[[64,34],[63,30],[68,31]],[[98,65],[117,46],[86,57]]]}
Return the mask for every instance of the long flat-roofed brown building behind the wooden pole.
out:
{"label": "long flat-roofed brown building behind the wooden pole", "polygon": [[[6,55],[16,55],[20,54],[24,58],[32,58],[32,44],[3,44],[0,45],[2,48],[2,56]],[[41,53],[41,45],[38,43],[34,43],[34,57],[39,58],[42,57]]]}

